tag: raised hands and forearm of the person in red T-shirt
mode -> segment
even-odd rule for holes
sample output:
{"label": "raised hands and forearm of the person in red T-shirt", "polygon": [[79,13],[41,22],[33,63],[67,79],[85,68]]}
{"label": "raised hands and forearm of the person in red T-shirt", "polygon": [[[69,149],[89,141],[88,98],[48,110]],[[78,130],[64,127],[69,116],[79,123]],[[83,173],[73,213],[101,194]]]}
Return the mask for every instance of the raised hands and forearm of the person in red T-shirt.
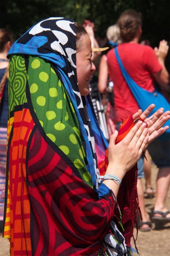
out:
{"label": "raised hands and forearm of the person in red T-shirt", "polygon": [[158,58],[159,63],[162,66],[161,71],[158,73],[153,74],[155,80],[160,84],[161,88],[167,87],[168,80],[169,80],[169,74],[167,72],[167,69],[164,64],[164,60],[167,56],[169,46],[167,45],[167,41],[160,41],[159,48],[155,47],[154,51],[156,53],[156,56]]}

